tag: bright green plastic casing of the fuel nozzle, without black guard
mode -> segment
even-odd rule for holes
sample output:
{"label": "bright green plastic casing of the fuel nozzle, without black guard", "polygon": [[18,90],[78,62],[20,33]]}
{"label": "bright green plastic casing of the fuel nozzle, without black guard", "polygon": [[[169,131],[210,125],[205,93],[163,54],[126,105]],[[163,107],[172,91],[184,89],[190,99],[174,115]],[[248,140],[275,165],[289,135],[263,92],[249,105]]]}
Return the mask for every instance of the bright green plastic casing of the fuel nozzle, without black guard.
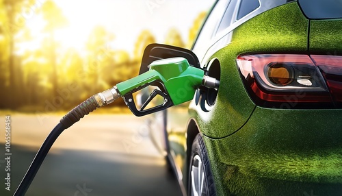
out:
{"label": "bright green plastic casing of the fuel nozzle, without black guard", "polygon": [[124,96],[140,86],[160,82],[165,86],[174,105],[189,101],[202,84],[204,71],[189,66],[185,58],[168,58],[152,62],[150,70],[116,85]]}

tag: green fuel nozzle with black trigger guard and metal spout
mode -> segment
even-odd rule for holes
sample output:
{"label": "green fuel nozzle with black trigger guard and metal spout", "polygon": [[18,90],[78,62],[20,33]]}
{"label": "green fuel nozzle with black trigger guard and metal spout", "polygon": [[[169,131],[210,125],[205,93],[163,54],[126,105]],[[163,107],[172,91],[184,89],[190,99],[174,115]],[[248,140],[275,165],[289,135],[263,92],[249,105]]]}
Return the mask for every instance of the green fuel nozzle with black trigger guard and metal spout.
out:
{"label": "green fuel nozzle with black trigger guard and metal spout", "polygon": [[[218,88],[219,85],[220,82],[205,75],[205,71],[190,66],[185,58],[178,57],[156,60],[149,65],[149,71],[120,82],[116,88],[131,111],[143,116],[192,100],[200,86]],[[158,89],[153,90],[140,110],[137,110],[132,94],[146,86],[156,86]],[[163,103],[145,110],[146,105],[157,95],[163,97]]]}

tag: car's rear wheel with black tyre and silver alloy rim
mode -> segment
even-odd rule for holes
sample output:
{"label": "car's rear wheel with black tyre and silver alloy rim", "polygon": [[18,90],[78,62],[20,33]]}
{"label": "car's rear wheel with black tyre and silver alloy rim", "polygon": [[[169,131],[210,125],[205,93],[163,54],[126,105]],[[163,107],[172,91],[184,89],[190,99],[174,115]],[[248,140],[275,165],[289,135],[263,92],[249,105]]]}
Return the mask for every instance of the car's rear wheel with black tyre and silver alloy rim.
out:
{"label": "car's rear wheel with black tyre and silver alloy rim", "polygon": [[[205,143],[200,134],[197,134],[194,142],[192,143],[192,154],[189,159],[189,173],[187,179],[188,196],[196,195],[194,194],[195,191],[198,193],[199,196],[216,195],[213,173],[211,172],[207,148],[205,147]],[[198,184],[196,184],[196,182],[198,182]]]}

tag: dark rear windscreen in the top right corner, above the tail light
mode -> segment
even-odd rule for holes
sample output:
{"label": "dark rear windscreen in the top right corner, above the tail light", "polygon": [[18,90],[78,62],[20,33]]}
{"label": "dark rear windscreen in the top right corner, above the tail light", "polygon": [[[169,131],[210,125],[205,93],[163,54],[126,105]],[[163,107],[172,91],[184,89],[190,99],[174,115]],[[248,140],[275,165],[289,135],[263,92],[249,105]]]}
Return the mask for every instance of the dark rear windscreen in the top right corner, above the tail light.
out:
{"label": "dark rear windscreen in the top right corner, above the tail light", "polygon": [[300,0],[298,3],[308,19],[342,18],[342,1],[340,0]]}

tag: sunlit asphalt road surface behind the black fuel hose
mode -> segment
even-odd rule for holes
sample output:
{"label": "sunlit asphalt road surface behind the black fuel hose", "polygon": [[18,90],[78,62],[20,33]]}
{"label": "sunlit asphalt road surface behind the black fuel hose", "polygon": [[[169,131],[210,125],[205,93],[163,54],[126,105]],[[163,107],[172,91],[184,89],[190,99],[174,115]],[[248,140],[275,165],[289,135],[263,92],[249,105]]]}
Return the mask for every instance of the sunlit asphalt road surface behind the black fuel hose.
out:
{"label": "sunlit asphalt road surface behind the black fuel hose", "polygon": [[[0,116],[0,195],[13,195],[61,117],[11,115],[11,191],[6,191],[5,116]],[[57,139],[26,195],[181,195],[145,121],[129,114],[94,114],[81,119]]]}

